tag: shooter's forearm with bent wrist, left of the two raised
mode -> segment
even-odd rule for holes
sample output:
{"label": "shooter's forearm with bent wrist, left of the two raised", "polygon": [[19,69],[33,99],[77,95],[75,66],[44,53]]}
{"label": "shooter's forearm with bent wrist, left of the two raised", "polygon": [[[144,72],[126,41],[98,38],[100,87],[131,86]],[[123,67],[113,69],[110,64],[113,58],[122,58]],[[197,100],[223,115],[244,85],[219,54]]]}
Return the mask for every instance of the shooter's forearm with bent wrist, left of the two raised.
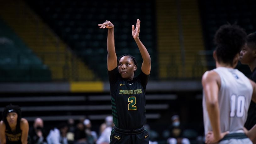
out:
{"label": "shooter's forearm with bent wrist, left of the two raised", "polygon": [[115,55],[114,28],[108,29],[107,50],[108,55]]}

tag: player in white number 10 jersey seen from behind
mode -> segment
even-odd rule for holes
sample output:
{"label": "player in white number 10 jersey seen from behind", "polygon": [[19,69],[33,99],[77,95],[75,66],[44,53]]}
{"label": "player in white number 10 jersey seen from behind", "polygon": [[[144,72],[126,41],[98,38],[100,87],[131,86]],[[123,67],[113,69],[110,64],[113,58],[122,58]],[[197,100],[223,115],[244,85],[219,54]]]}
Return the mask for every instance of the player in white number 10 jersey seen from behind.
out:
{"label": "player in white number 10 jersey seen from behind", "polygon": [[234,69],[246,33],[238,25],[222,25],[214,42],[216,69],[202,77],[205,142],[251,144],[250,139],[256,137],[256,126],[248,133],[243,126],[251,100],[256,102],[256,84]]}

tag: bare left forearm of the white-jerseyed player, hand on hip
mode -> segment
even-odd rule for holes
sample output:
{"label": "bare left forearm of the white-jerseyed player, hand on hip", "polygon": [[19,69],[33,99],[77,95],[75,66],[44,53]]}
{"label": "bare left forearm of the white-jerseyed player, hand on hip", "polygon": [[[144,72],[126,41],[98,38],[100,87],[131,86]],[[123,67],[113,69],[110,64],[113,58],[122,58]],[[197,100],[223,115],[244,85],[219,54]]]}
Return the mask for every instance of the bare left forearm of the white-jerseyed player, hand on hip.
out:
{"label": "bare left forearm of the white-jerseyed player, hand on hip", "polygon": [[209,119],[214,133],[214,138],[220,138],[220,110],[218,102],[207,102]]}

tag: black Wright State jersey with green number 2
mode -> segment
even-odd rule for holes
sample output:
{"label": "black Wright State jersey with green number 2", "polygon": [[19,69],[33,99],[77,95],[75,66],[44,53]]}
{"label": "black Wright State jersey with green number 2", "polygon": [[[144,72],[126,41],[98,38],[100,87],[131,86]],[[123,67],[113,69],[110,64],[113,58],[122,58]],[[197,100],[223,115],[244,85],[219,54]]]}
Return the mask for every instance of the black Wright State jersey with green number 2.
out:
{"label": "black Wright State jersey with green number 2", "polygon": [[146,122],[145,90],[149,75],[142,71],[132,81],[123,79],[117,68],[108,71],[113,122],[120,129],[138,129]]}

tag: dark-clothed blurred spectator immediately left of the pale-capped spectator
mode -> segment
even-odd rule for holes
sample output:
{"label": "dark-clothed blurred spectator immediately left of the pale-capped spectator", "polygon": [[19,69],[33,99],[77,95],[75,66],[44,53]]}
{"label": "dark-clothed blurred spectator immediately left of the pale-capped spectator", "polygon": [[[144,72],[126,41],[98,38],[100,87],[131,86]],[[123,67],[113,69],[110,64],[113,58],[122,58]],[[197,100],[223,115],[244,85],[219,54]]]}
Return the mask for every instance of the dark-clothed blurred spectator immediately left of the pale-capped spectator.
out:
{"label": "dark-clothed blurred spectator immediately left of the pale-capped spectator", "polygon": [[75,144],[87,144],[85,125],[81,121],[76,125]]}

